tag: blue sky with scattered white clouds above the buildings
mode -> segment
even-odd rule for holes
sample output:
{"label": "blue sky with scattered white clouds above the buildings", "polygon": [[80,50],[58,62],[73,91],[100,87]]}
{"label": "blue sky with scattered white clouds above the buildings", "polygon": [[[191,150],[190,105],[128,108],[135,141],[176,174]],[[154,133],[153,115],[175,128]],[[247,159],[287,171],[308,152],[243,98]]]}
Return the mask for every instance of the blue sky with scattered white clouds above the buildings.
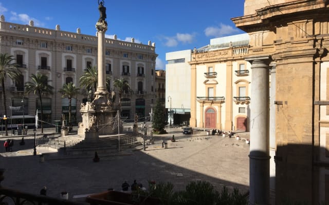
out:
{"label": "blue sky with scattered white clouds above the buildings", "polygon": [[[243,33],[230,18],[243,16],[244,0],[104,0],[106,37],[155,43],[156,69],[166,68],[166,53],[200,48],[211,38]],[[96,0],[0,0],[6,22],[95,35],[99,18]]]}

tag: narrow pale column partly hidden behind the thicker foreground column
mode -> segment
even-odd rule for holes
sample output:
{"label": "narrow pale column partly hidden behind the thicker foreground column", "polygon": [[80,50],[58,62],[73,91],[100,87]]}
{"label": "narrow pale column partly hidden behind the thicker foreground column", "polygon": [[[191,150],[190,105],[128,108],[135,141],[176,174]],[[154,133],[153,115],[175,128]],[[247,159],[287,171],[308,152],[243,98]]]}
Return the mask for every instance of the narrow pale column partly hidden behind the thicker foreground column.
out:
{"label": "narrow pale column partly hidden behind the thicker foreground column", "polygon": [[271,64],[271,86],[269,90],[269,155],[270,155],[270,171],[269,171],[269,189],[270,189],[270,202],[271,204],[276,204],[276,163],[274,156],[276,155],[276,105],[274,101],[276,100],[276,65]]}

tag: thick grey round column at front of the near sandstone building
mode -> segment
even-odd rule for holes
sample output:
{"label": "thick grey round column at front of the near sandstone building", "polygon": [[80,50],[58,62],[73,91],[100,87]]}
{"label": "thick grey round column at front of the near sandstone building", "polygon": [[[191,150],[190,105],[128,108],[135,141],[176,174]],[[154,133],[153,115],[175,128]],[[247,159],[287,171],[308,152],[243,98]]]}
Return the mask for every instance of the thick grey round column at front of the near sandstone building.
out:
{"label": "thick grey round column at front of the near sandstone building", "polygon": [[269,64],[270,56],[250,57],[249,204],[269,204]]}

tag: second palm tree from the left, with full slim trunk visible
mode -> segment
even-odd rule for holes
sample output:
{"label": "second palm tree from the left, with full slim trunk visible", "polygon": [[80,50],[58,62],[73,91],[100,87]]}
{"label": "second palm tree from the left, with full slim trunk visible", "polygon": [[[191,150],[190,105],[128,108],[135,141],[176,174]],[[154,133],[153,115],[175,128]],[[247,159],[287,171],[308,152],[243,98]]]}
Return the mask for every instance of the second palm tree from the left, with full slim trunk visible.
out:
{"label": "second palm tree from the left, with full slim trunk visible", "polygon": [[25,83],[25,93],[26,94],[38,94],[40,99],[41,106],[41,133],[43,133],[43,106],[42,106],[42,93],[47,92],[52,94],[53,87],[48,85],[48,80],[46,75],[37,73],[36,75],[32,74],[30,77],[31,81]]}

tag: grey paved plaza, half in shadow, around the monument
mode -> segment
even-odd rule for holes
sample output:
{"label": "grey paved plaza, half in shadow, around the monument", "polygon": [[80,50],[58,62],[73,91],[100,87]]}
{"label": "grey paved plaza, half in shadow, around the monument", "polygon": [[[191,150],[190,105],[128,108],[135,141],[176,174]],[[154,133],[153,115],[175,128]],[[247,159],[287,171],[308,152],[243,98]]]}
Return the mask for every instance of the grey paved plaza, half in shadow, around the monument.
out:
{"label": "grey paved plaza, half in shadow, around the monument", "polygon": [[[0,168],[5,168],[2,186],[23,192],[39,194],[43,186],[47,195],[59,197],[69,193],[70,200],[108,188],[120,190],[124,180],[133,183],[136,179],[147,187],[148,180],[169,181],[175,190],[185,189],[190,181],[207,180],[218,190],[224,185],[240,190],[249,186],[249,145],[244,140],[207,135],[195,131],[193,135],[182,135],[180,128],[167,128],[168,134],[154,135],[155,144],[122,149],[99,155],[62,155],[46,149],[37,149],[33,156],[33,137],[25,137],[26,144],[20,146],[21,137],[14,138],[13,152],[5,152],[0,138]],[[175,142],[169,139],[175,135]],[[238,133],[248,138],[248,133]],[[69,136],[70,137],[70,136]],[[74,138],[74,136],[72,136]],[[168,149],[162,148],[162,140],[168,140]],[[40,162],[40,154],[45,161]]]}

